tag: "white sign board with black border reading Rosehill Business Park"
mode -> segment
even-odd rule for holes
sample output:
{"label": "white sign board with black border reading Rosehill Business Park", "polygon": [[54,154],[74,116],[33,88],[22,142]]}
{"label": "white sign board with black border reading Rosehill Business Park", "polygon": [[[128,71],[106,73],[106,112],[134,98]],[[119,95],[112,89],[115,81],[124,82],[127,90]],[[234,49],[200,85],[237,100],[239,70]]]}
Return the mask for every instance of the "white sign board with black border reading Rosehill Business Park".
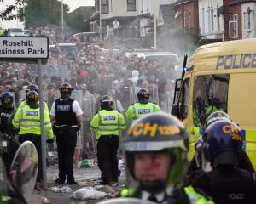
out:
{"label": "white sign board with black border reading Rosehill Business Park", "polygon": [[48,37],[0,37],[0,59],[48,59]]}

